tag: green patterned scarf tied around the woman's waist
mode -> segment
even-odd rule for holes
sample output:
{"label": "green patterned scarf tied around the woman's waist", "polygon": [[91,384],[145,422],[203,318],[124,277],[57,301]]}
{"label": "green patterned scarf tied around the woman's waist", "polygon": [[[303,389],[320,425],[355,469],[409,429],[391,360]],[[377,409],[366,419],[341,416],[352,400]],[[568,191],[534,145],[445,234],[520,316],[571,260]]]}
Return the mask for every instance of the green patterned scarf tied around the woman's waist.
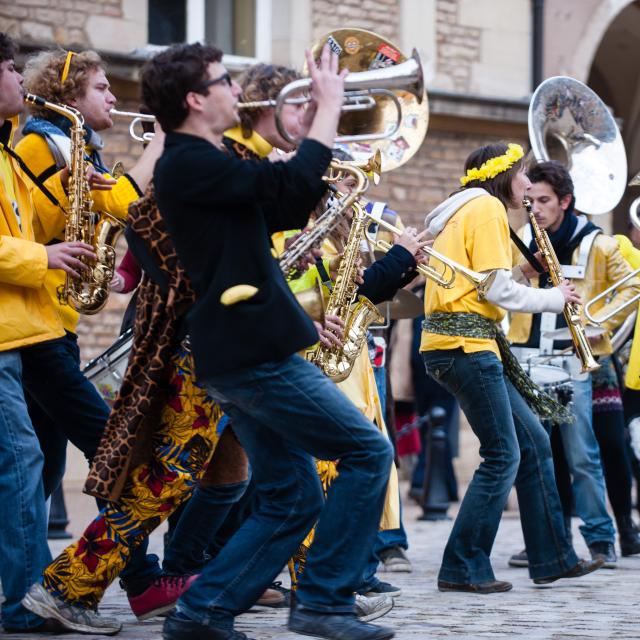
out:
{"label": "green patterned scarf tied around the woman's waist", "polygon": [[495,340],[498,343],[502,366],[507,378],[540,420],[548,420],[554,424],[567,424],[575,421],[573,414],[567,407],[556,402],[525,373],[511,352],[504,333],[489,318],[478,313],[435,312],[424,319],[422,328],[428,333],[444,336]]}

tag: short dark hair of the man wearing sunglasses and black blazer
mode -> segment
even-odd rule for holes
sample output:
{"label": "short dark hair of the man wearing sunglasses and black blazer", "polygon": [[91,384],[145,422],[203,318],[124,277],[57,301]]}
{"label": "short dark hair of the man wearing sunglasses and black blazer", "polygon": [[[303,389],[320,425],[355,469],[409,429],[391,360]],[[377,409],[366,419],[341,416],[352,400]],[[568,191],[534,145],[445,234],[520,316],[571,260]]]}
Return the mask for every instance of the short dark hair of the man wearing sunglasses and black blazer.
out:
{"label": "short dark hair of the man wearing sunglasses and black blazer", "polygon": [[177,129],[189,115],[186,95],[208,80],[207,66],[222,60],[217,47],[174,44],[142,69],[142,99],[165,131]]}

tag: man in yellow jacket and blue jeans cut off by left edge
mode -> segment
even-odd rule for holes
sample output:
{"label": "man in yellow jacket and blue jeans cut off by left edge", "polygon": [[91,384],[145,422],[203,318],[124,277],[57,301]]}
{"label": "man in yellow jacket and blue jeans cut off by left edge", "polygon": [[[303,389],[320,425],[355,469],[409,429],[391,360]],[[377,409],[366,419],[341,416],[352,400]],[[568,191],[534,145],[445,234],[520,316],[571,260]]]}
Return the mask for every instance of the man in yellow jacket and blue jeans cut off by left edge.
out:
{"label": "man in yellow jacket and blue jeans cut off by left edge", "polygon": [[[22,355],[30,346],[64,335],[56,305],[44,286],[49,270],[77,274],[82,268],[78,258],[95,255],[92,247],[79,242],[39,244],[64,228],[60,206],[68,206],[64,191],[68,174],[56,171],[43,189],[38,188],[11,147],[24,109],[22,76],[14,64],[16,49],[0,33],[0,579],[4,630],[38,633],[51,626],[26,611],[20,601],[51,555],[44,460],[23,392]],[[37,215],[47,216],[46,228],[38,224]]]}

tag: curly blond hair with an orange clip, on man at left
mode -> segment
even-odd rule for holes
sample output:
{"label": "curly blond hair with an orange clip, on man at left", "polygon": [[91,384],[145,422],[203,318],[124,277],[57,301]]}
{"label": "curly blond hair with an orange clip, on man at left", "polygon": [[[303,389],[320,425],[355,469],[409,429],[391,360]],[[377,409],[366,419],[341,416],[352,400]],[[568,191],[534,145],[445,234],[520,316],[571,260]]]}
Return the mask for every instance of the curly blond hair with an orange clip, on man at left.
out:
{"label": "curly blond hair with an orange clip, on man at left", "polygon": [[[49,102],[69,104],[86,93],[92,71],[105,69],[104,61],[95,51],[74,53],[67,77],[61,82],[66,60],[67,52],[64,49],[42,51],[29,58],[23,73],[25,90]],[[30,110],[35,116],[51,116],[51,111],[42,107],[31,106]]]}

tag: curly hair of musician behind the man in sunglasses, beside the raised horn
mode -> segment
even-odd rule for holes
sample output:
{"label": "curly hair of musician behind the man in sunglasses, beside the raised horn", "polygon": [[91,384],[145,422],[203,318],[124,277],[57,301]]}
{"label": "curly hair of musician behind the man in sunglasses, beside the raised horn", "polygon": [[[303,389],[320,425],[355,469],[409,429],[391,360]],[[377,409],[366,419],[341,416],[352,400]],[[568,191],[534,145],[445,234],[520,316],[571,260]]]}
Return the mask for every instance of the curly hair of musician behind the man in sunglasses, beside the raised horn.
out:
{"label": "curly hair of musician behind the man in sunglasses, beside the raised horn", "polygon": [[[275,100],[281,89],[298,80],[300,74],[278,64],[256,64],[248,69],[240,79],[242,87],[241,102],[259,102],[261,100]],[[265,107],[240,110],[240,126],[242,135],[250,138],[256,120],[265,111]]]}

